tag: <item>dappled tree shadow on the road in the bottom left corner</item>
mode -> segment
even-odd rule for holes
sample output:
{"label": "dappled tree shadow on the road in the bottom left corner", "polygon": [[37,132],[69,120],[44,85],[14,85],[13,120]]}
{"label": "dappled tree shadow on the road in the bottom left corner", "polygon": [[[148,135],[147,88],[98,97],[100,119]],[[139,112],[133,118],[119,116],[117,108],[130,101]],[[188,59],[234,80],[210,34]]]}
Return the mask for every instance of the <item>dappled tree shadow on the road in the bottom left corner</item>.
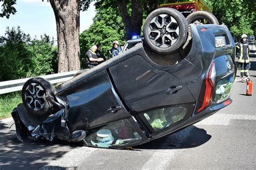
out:
{"label": "dappled tree shadow on the road in the bottom left corner", "polygon": [[22,143],[17,139],[15,130],[5,133],[3,129],[9,129],[9,126],[0,124],[0,169],[39,169],[62,157],[72,147],[66,143],[49,141]]}

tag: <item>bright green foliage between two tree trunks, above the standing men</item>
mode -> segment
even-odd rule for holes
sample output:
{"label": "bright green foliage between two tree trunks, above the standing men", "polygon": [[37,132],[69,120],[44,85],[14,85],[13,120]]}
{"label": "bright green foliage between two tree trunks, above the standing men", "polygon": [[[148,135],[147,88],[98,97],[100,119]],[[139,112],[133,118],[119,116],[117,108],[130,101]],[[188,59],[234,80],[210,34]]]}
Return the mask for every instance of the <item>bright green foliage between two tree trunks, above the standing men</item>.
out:
{"label": "bright green foliage between two tree trunks, above the standing men", "polygon": [[82,69],[86,68],[85,53],[92,45],[102,44],[102,52],[106,58],[114,40],[117,40],[119,45],[123,45],[125,43],[124,24],[117,7],[97,8],[93,24],[80,34],[79,39]]}

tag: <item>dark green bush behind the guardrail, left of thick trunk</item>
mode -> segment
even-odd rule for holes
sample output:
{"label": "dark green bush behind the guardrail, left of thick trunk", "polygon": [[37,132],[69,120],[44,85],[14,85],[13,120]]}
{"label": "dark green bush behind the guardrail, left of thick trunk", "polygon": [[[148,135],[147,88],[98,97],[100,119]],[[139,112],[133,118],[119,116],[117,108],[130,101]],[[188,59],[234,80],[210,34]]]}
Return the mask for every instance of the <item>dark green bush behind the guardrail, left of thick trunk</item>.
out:
{"label": "dark green bush behind the guardrail, left of thick trunk", "polygon": [[9,27],[0,37],[0,80],[20,79],[30,76],[51,74],[57,67],[57,49],[53,39],[41,36],[31,40],[18,27]]}

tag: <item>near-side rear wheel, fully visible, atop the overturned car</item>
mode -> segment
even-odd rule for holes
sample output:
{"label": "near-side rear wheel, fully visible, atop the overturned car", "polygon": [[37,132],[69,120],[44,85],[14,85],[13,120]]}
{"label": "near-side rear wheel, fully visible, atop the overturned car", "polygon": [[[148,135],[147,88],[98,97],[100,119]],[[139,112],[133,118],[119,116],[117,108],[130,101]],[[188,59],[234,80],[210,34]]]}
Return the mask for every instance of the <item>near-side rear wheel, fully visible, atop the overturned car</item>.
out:
{"label": "near-side rear wheel, fully visible, atop the overturned car", "polygon": [[186,42],[188,26],[185,17],[172,8],[159,8],[147,16],[144,39],[159,54],[175,52]]}

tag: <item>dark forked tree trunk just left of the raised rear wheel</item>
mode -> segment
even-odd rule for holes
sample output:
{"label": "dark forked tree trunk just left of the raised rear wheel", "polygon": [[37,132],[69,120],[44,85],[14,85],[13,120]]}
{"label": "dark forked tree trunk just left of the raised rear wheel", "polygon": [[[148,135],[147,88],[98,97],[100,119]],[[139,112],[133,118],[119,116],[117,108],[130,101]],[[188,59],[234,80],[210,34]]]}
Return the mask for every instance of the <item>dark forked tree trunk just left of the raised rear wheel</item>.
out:
{"label": "dark forked tree trunk just left of the raised rear wheel", "polygon": [[125,39],[130,40],[132,36],[140,35],[142,31],[142,20],[143,20],[143,8],[142,2],[137,0],[131,0],[132,13],[131,16],[127,12],[127,6],[125,0],[118,0],[117,6],[120,11],[120,15],[124,22],[125,27]]}

